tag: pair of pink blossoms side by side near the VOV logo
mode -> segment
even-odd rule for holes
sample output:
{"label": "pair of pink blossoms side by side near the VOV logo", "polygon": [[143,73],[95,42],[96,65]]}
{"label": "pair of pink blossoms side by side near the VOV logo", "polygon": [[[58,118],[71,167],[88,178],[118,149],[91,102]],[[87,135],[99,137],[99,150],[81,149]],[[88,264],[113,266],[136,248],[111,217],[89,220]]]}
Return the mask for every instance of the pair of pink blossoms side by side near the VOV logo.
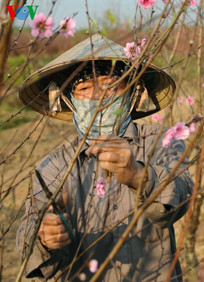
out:
{"label": "pair of pink blossoms side by side near the VOV logo", "polygon": [[[31,34],[33,37],[38,36],[39,38],[51,37],[53,35],[52,27],[54,24],[52,17],[47,17],[41,12],[35,15],[34,20],[30,22],[32,27]],[[60,22],[59,33],[65,37],[73,36],[75,25],[76,21],[73,18],[65,18]]]}

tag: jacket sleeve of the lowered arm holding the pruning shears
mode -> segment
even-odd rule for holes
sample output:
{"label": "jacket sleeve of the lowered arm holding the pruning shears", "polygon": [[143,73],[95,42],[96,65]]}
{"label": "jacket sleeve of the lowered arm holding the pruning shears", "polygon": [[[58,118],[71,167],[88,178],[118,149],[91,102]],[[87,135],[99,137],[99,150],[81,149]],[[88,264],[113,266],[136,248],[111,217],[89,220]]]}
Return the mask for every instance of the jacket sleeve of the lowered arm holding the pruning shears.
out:
{"label": "jacket sleeve of the lowered arm holding the pruning shears", "polygon": [[[37,168],[50,191],[54,191],[60,183],[56,161],[54,155],[47,156]],[[36,207],[40,211],[47,202],[47,199],[36,178],[33,183],[33,194]],[[38,219],[36,208],[34,208],[31,199],[27,199],[25,207],[25,214],[22,217],[16,237],[16,246],[21,260],[25,257],[31,236],[36,227],[36,220]],[[63,269],[65,264],[67,264],[68,257],[68,247],[49,251],[41,244],[37,237],[33,246],[32,255],[25,267],[25,276],[27,278],[43,277],[49,279],[53,277],[58,270]]]}

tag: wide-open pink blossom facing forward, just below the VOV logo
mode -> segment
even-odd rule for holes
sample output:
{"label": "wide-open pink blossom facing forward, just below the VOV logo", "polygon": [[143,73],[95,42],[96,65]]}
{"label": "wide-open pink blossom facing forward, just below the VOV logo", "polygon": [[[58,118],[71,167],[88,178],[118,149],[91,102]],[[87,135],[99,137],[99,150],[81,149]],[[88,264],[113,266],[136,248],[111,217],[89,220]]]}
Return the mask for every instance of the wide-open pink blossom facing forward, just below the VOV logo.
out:
{"label": "wide-open pink blossom facing forward, just below the VOV logo", "polygon": [[33,27],[31,31],[33,37],[39,36],[39,38],[44,38],[53,35],[53,31],[51,30],[54,25],[53,18],[46,17],[42,12],[35,15],[30,25]]}

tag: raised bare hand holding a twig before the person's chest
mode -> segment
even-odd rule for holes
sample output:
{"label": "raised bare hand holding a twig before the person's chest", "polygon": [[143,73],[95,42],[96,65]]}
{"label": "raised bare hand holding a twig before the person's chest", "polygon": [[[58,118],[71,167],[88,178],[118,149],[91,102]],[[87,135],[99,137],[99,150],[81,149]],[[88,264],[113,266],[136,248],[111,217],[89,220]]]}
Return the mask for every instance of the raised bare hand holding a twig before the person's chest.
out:
{"label": "raised bare hand holding a twig before the person's chest", "polygon": [[[137,188],[142,177],[144,166],[135,160],[127,140],[114,134],[94,137],[86,155],[98,154],[99,166],[115,175],[120,183]],[[143,181],[147,181],[147,174]]]}

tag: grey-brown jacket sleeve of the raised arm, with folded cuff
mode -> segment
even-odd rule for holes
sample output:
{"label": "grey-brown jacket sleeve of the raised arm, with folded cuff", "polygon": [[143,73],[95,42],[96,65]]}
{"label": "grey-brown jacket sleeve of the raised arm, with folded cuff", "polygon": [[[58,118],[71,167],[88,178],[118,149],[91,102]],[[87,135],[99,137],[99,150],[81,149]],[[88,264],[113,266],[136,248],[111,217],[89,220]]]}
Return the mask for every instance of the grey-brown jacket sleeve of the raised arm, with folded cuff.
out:
{"label": "grey-brown jacket sleeve of the raised arm, with folded cuff", "polygon": [[[148,148],[152,148],[155,142],[154,139],[152,139],[151,146]],[[147,143],[150,144],[150,142]],[[159,139],[150,158],[148,165],[148,181],[142,192],[141,202],[144,202],[161,188],[173,168],[180,161],[185,150],[186,147],[183,140],[173,139],[168,148],[163,148],[162,137]],[[150,151],[151,150],[149,150],[149,153]],[[185,200],[191,195],[194,185],[187,168],[188,165],[189,160],[185,158],[172,180],[144,212],[145,216],[153,222],[157,228],[168,227],[187,212],[188,203],[185,203]],[[184,172],[180,174],[183,170]]]}

